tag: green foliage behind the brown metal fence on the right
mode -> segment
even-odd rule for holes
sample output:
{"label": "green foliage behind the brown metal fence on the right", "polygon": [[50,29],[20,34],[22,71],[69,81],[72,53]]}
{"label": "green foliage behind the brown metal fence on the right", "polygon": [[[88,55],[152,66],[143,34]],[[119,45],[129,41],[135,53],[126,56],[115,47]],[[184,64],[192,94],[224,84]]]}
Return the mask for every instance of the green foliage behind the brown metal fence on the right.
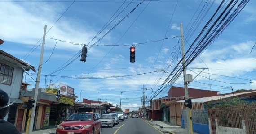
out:
{"label": "green foliage behind the brown metal fence on the right", "polygon": [[208,108],[226,108],[229,106],[233,106],[233,105],[247,105],[248,102],[245,100],[239,100],[238,97],[231,99],[231,98],[227,98],[225,100],[223,99],[219,99],[218,104],[214,104],[211,102],[208,102],[207,104],[205,103],[205,107]]}

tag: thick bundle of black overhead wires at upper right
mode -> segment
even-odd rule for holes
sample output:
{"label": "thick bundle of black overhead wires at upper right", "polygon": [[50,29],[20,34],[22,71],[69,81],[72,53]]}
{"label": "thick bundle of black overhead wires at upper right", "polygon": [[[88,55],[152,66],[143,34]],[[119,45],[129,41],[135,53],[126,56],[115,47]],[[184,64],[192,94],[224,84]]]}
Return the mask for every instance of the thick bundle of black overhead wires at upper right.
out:
{"label": "thick bundle of black overhead wires at upper right", "polygon": [[[192,63],[194,59],[196,59],[199,54],[203,52],[203,50],[207,49],[207,47],[210,46],[212,42],[225,30],[225,28],[234,20],[234,18],[242,11],[249,1],[250,0],[241,0],[241,2],[238,3],[238,0],[231,0],[221,14],[216,16],[216,14],[220,12],[220,9],[225,2],[225,0],[222,0],[221,4],[216,9],[216,12],[203,27],[200,34],[191,44],[185,55],[182,57],[179,63],[177,63],[177,66],[172,70],[167,79],[164,80],[163,84],[161,84],[158,90],[154,92],[154,94],[148,100],[158,98],[160,93],[167,92],[183,72],[181,63],[182,60],[185,58],[185,67]],[[216,20],[214,20],[215,17],[217,17]],[[210,26],[211,22],[213,22],[213,24]],[[209,29],[207,29],[208,26],[210,26]]]}

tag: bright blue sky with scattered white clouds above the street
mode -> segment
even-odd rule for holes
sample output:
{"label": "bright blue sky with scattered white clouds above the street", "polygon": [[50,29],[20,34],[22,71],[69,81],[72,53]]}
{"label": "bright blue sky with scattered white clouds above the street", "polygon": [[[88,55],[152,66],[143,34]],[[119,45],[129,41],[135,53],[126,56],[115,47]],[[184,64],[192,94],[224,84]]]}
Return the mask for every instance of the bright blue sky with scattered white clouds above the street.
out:
{"label": "bright blue sky with scattered white clouds above the street", "polygon": [[[183,74],[175,81],[168,78],[181,65],[181,23],[186,53],[193,42],[199,42],[197,37],[221,1],[0,0],[0,39],[4,40],[0,49],[38,67],[47,25],[39,87],[55,83],[59,88],[62,83],[74,88],[76,101],[121,103],[123,110],[137,110],[143,91],[148,106],[150,98],[167,96],[170,85],[184,87]],[[223,1],[221,12],[231,0]],[[194,79],[189,88],[221,93],[232,92],[231,86],[234,91],[256,89],[254,5],[256,1],[250,0],[191,60],[186,67]],[[206,29],[211,25],[213,21]],[[80,61],[84,45],[88,47],[86,62]],[[130,62],[132,45],[135,63]],[[28,73],[36,79],[37,72]],[[33,79],[24,73],[23,82],[32,84],[29,89],[35,87]],[[166,81],[171,84],[163,88]]]}

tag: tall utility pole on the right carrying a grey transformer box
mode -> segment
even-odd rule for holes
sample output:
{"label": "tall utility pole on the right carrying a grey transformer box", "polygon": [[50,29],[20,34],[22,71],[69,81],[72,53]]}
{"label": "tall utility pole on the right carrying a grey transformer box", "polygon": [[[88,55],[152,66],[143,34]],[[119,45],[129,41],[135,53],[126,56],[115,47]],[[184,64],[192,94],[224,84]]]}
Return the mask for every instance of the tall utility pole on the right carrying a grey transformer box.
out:
{"label": "tall utility pole on the right carrying a grey transformer box", "polygon": [[[185,75],[186,75],[186,64],[185,64],[185,52],[184,52],[184,41],[183,41],[183,30],[182,30],[182,23],[181,23],[181,50],[182,50],[182,64],[183,64],[183,78],[184,78],[184,88],[185,88],[185,99],[189,99],[189,91],[188,91],[188,83],[185,82]],[[186,108],[186,116],[187,116],[187,129],[188,134],[193,134],[192,130],[192,119],[190,118],[190,109]]]}

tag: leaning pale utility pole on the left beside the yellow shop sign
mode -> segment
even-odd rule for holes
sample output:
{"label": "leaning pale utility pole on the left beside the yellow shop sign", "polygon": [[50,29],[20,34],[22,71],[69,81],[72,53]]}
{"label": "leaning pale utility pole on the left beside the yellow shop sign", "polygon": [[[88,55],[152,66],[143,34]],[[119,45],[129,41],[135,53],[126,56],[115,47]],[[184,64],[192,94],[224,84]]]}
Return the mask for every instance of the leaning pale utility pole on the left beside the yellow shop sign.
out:
{"label": "leaning pale utility pole on the left beside the yellow shop sign", "polygon": [[39,83],[40,83],[40,75],[41,75],[43,55],[44,55],[44,42],[45,42],[46,28],[47,28],[47,25],[44,25],[43,43],[42,43],[39,67],[38,67],[38,72],[37,72],[37,77],[36,77],[36,82],[35,82],[35,93],[34,93],[34,97],[33,97],[33,99],[35,100],[35,106],[32,107],[32,109],[31,109],[30,122],[29,122],[29,126],[28,126],[28,134],[32,134],[33,125],[34,125],[35,108],[36,108],[37,94],[38,94],[38,88],[39,88]]}

